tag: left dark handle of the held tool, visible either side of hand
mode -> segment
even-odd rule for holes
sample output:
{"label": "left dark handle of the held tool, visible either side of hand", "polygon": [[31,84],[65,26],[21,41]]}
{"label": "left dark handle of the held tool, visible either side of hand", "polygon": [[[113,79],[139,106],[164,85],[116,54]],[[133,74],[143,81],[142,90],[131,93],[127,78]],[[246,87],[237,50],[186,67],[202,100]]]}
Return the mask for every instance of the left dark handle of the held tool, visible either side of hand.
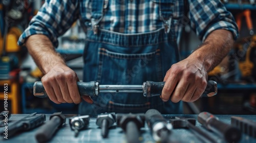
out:
{"label": "left dark handle of the held tool, visible either side of hand", "polygon": [[[96,81],[77,82],[77,87],[81,96],[95,97],[98,94],[96,93]],[[48,98],[46,90],[40,81],[34,83],[33,94],[38,98]]]}

